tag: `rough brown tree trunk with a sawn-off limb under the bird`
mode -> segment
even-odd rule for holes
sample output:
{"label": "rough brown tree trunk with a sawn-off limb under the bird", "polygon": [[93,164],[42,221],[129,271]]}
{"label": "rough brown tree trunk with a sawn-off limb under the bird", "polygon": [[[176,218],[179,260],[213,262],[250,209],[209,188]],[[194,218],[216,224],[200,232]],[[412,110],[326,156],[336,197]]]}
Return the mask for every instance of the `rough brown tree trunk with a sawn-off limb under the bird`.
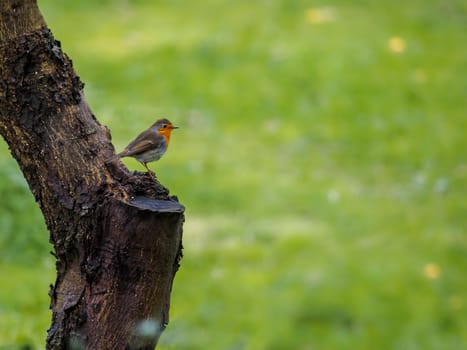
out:
{"label": "rough brown tree trunk with a sawn-off limb under the bird", "polygon": [[153,349],[168,323],[184,207],[118,160],[35,0],[0,2],[0,133],[57,259],[47,349]]}

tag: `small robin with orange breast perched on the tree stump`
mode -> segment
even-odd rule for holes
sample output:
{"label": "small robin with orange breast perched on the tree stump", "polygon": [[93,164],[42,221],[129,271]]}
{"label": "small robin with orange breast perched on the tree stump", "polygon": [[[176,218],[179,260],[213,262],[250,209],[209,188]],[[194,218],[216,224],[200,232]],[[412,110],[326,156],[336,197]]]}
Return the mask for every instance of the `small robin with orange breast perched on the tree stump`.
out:
{"label": "small robin with orange breast perched on the tree stump", "polygon": [[159,160],[167,151],[170,143],[170,135],[173,129],[178,129],[168,119],[159,119],[151,127],[136,139],[130,142],[125,149],[117,154],[118,158],[133,157],[144,165],[151,176],[154,173],[148,168],[147,163]]}

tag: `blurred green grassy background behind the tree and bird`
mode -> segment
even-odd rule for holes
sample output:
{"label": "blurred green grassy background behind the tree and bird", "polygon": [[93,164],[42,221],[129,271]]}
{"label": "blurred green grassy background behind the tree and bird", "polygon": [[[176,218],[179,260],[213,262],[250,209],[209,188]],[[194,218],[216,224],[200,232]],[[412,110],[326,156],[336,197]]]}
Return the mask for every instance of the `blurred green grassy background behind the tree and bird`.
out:
{"label": "blurred green grassy background behind the tree and bird", "polygon": [[[117,150],[181,127],[160,349],[467,349],[465,1],[39,5]],[[51,246],[0,154],[0,349],[41,349]]]}

